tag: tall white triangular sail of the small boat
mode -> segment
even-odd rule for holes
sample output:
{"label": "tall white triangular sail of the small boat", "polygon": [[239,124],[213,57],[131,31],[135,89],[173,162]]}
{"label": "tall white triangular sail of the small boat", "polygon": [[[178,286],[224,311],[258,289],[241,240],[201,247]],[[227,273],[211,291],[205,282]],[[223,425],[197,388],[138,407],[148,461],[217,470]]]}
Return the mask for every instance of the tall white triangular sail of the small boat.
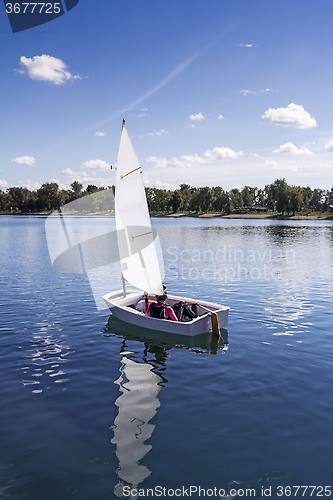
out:
{"label": "tall white triangular sail of the small boat", "polygon": [[115,217],[124,279],[140,290],[162,294],[157,235],[151,227],[142,171],[125,123],[117,160]]}

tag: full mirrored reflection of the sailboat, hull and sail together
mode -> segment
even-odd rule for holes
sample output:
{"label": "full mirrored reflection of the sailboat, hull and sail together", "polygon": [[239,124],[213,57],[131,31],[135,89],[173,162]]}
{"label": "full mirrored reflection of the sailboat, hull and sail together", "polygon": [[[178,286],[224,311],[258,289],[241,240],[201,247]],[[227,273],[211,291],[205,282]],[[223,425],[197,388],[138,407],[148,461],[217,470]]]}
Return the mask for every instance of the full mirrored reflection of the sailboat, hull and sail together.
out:
{"label": "full mirrored reflection of the sailboat, hull and sail together", "polygon": [[[151,474],[140,460],[152,448],[145,442],[154,431],[155,425],[150,421],[160,406],[158,394],[167,383],[164,374],[169,351],[188,349],[195,353],[217,354],[218,350],[228,349],[228,332],[221,330],[220,340],[209,333],[183,337],[135,328],[111,316],[104,335],[123,339],[120,377],[115,381],[121,395],[115,401],[118,414],[111,427],[114,431],[111,443],[116,445],[119,461],[119,481],[114,493],[124,497],[126,492],[126,497],[131,498],[129,490],[136,489]],[[128,349],[130,341],[137,342],[135,352]]]}

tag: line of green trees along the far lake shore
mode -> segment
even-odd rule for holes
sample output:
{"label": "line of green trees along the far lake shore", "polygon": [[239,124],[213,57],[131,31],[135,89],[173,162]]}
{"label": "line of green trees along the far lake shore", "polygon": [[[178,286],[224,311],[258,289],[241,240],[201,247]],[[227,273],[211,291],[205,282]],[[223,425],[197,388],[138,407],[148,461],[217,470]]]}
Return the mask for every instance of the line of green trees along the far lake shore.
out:
{"label": "line of green trees along the far lake shore", "polygon": [[[106,192],[115,187],[99,188],[93,184],[83,189],[78,181],[70,185],[70,189],[59,189],[57,183],[44,183],[36,191],[23,187],[9,187],[5,192],[0,190],[0,213],[33,214],[50,213],[71,201],[96,192]],[[311,214],[331,215],[333,211],[333,187],[324,190],[310,187],[290,186],[285,179],[277,179],[263,189],[245,186],[225,191],[222,187],[191,187],[181,184],[179,189],[167,190],[146,188],[148,208],[151,213],[168,214],[219,214],[241,215],[250,213]],[[96,213],[109,212],[103,196],[99,196]],[[107,199],[107,197],[106,197]],[[332,214],[333,215],[333,214]]]}

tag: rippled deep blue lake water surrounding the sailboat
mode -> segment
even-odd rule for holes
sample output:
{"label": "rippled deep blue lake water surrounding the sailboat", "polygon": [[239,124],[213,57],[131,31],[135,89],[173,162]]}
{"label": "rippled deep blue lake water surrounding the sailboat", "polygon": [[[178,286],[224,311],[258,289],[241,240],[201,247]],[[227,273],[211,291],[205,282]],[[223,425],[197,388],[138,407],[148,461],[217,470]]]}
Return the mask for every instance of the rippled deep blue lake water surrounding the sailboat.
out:
{"label": "rippled deep blue lake water surrounding the sailboat", "polygon": [[230,306],[219,344],[116,321],[116,272],[56,272],[45,218],[1,216],[0,499],[331,496],[333,223],[153,226],[168,291]]}

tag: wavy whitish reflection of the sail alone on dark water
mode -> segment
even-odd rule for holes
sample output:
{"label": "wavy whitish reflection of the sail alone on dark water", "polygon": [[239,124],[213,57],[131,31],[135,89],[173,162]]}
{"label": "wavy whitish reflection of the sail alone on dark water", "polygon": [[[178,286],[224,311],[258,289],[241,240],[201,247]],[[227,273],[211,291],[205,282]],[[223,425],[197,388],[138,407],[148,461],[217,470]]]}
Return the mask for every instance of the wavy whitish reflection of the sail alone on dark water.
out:
{"label": "wavy whitish reflection of the sail alone on dark water", "polygon": [[120,377],[115,381],[122,393],[115,404],[118,415],[114,421],[114,437],[119,460],[117,475],[120,478],[115,494],[123,496],[123,487],[136,488],[151,471],[140,460],[150,451],[151,445],[145,444],[153,433],[155,425],[149,421],[160,406],[158,393],[163,379],[154,373],[149,363],[138,363],[122,352]]}

